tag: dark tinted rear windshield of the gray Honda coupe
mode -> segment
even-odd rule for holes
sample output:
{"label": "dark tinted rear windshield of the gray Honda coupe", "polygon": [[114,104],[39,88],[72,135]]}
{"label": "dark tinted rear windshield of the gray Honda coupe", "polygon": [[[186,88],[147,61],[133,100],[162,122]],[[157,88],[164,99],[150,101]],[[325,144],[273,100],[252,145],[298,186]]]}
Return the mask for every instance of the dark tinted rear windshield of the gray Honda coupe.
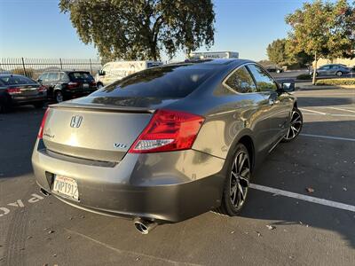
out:
{"label": "dark tinted rear windshield of the gray Honda coupe", "polygon": [[179,65],[146,69],[91,96],[184,98],[206,81],[216,66]]}

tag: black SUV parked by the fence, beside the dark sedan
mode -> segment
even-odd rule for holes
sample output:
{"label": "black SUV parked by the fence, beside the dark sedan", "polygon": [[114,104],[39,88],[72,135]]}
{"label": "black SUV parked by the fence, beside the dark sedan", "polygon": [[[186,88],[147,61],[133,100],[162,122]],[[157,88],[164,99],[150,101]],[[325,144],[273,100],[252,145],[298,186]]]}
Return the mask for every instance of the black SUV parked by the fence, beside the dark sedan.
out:
{"label": "black SUV parked by the fence, beside the dark sedan", "polygon": [[92,75],[85,71],[45,72],[38,82],[47,88],[48,97],[57,103],[83,97],[98,89]]}

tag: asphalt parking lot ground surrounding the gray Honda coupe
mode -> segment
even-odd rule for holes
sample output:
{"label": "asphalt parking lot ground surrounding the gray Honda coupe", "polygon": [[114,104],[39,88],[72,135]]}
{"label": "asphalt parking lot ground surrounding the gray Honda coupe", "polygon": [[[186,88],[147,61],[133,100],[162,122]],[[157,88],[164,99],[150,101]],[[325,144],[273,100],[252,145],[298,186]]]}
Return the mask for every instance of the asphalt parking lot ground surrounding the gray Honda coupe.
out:
{"label": "asphalt parking lot ground surrounding the gray Honda coupe", "polygon": [[44,110],[0,114],[0,265],[353,265],[355,90],[295,92],[303,134],[254,175],[238,217],[157,227],[44,197],[30,156]]}

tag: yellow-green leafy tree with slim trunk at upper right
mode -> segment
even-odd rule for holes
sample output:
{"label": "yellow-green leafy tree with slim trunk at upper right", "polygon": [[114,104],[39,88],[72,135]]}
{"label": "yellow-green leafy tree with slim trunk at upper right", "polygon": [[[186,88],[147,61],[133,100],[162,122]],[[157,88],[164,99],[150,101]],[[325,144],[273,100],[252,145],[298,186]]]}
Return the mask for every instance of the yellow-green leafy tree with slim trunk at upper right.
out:
{"label": "yellow-green leafy tree with slim trunk at upper right", "polygon": [[[302,9],[286,17],[292,28],[289,33],[292,46],[296,52],[314,56],[314,70],[319,57],[348,58],[353,55],[353,12],[354,8],[346,0],[336,3],[316,0],[312,4],[305,3]],[[316,72],[313,71],[313,84],[315,81]]]}

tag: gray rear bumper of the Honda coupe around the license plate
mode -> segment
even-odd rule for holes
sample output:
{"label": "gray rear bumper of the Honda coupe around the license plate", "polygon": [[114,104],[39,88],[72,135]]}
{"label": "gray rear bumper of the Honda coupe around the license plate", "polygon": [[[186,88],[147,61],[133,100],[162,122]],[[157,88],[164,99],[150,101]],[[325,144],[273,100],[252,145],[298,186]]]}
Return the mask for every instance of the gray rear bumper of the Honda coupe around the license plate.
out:
{"label": "gray rear bumper of the Honda coupe around the license plate", "polygon": [[[36,145],[37,146],[37,145]],[[126,154],[114,167],[58,160],[35,149],[36,181],[51,192],[54,175],[75,178],[79,201],[68,204],[102,215],[175,223],[219,207],[225,160],[193,150]]]}

